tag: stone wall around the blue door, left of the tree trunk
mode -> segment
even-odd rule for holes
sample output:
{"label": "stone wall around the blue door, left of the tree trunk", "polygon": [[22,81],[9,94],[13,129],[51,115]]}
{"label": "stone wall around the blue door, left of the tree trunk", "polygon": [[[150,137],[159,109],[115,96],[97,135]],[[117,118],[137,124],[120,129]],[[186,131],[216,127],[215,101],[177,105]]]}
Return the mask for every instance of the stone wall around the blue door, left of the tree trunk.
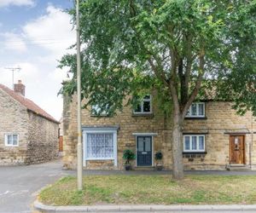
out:
{"label": "stone wall around the blue door, left of the tree trunk", "polygon": [[[63,112],[63,152],[64,152],[64,166],[74,169],[76,167],[76,145],[77,145],[77,105],[76,97],[73,96],[73,101],[69,98],[64,98],[64,112]],[[169,162],[171,141],[164,139],[164,130],[166,130],[165,117],[153,107],[152,115],[137,116],[132,114],[131,107],[125,107],[123,112],[118,112],[113,117],[95,117],[90,111],[82,111],[82,125],[118,125],[118,168],[113,168],[110,163],[103,164],[102,168],[108,169],[123,169],[123,151],[127,148],[136,150],[136,138],[132,133],[156,133],[154,136],[154,152],[161,150],[164,153],[164,160]],[[166,149],[166,147],[168,149]],[[133,162],[135,165],[135,161]],[[87,161],[88,168],[97,169],[99,162]]]}

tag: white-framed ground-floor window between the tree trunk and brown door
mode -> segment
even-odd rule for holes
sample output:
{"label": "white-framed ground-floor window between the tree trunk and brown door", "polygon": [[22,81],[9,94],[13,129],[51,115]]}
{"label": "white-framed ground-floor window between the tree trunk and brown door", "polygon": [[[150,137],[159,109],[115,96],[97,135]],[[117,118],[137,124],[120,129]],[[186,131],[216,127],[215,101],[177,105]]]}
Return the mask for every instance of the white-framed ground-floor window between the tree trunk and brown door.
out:
{"label": "white-framed ground-floor window between the tree trunk and brown door", "polygon": [[205,152],[205,135],[183,135],[183,152]]}

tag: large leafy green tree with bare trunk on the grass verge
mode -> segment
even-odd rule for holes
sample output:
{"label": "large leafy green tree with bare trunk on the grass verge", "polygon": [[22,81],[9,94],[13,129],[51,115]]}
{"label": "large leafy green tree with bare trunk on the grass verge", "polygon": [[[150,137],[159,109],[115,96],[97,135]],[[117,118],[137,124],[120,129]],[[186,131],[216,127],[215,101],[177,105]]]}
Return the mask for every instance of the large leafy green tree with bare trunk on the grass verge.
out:
{"label": "large leafy green tree with bare trunk on the grass verge", "polygon": [[[114,114],[127,95],[154,89],[172,114],[174,178],[183,178],[183,121],[193,101],[211,90],[234,100],[238,112],[256,112],[255,0],[86,0],[80,7],[86,106]],[[74,74],[63,94],[76,89],[75,57],[61,60]]]}

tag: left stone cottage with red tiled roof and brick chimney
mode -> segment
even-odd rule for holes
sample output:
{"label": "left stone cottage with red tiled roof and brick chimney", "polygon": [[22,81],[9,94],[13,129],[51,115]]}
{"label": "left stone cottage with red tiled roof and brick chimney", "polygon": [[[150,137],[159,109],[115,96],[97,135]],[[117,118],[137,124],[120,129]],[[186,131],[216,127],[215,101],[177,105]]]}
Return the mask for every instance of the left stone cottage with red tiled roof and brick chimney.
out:
{"label": "left stone cottage with red tiled roof and brick chimney", "polygon": [[0,84],[0,165],[37,164],[58,155],[55,118],[25,97],[25,85]]}

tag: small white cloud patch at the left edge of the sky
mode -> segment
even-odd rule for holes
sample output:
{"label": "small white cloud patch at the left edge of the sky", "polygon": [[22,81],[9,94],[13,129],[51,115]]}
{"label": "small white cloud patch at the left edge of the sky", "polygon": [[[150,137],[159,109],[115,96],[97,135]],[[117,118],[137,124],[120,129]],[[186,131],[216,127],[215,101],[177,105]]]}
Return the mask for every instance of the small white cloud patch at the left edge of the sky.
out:
{"label": "small white cloud patch at the left edge of the sky", "polygon": [[3,48],[9,50],[15,50],[20,53],[26,51],[26,43],[24,42],[22,35],[12,32],[1,33],[0,37],[3,37]]}

